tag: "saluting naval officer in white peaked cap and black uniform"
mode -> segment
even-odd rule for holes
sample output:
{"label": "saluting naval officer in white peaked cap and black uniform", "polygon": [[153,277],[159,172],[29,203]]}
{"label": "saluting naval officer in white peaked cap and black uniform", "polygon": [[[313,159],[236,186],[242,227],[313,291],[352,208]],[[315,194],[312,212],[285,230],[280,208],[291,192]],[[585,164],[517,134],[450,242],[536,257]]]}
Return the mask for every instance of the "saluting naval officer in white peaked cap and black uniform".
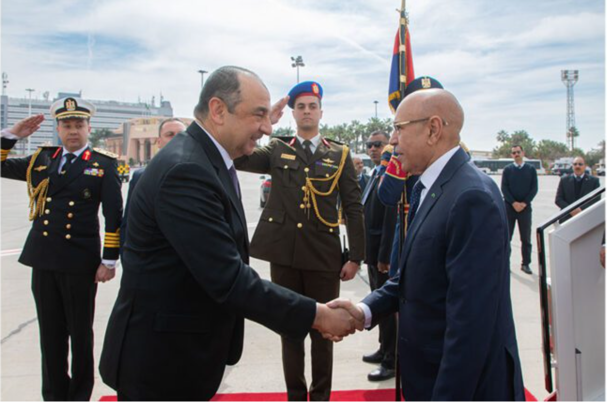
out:
{"label": "saluting naval officer in white peaked cap and black uniform", "polygon": [[[51,114],[63,146],[44,146],[24,158],[7,156],[19,138],[39,128],[44,117],[28,118],[2,131],[2,177],[27,182],[30,196],[32,229],[19,262],[33,268],[44,400],[90,399],[97,283],[114,278],[120,250],[122,196],[116,155],[87,145],[94,111],[80,98],[53,103]],[[103,259],[100,203],[106,224]]]}

